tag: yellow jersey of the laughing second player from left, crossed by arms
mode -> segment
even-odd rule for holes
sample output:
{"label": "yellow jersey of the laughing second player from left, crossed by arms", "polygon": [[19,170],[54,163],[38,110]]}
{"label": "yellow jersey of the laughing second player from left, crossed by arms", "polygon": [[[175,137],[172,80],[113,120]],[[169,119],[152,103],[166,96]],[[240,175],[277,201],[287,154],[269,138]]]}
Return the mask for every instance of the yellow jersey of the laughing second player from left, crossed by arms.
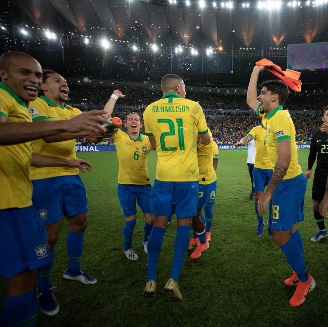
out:
{"label": "yellow jersey of the laughing second player from left, crossed by arms", "polygon": [[[66,103],[63,107],[58,107],[54,102],[44,96],[30,102],[29,111],[33,121],[41,119],[70,119],[82,113],[79,109],[68,106]],[[68,160],[77,159],[75,154],[75,140],[47,143],[40,138],[33,142],[33,152]],[[78,174],[78,168],[69,167],[31,167],[30,170],[31,179],[44,179]]]}

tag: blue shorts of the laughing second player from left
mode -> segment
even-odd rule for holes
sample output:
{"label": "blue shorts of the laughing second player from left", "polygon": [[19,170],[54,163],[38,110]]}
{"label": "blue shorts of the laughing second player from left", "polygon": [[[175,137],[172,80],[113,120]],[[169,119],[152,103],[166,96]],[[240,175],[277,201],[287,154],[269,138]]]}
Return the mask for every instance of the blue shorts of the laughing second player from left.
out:
{"label": "blue shorts of the laughing second player from left", "polygon": [[88,212],[85,186],[79,175],[32,180],[33,207],[45,225]]}

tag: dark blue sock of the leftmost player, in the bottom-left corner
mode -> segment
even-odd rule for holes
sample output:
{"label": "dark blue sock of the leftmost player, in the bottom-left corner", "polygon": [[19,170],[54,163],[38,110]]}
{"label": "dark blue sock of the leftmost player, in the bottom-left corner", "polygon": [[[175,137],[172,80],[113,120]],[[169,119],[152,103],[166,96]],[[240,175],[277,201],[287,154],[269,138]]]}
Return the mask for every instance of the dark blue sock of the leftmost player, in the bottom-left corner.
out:
{"label": "dark blue sock of the leftmost player, in the bottom-left corner", "polygon": [[35,327],[37,314],[36,290],[12,298],[6,296],[0,315],[0,326]]}

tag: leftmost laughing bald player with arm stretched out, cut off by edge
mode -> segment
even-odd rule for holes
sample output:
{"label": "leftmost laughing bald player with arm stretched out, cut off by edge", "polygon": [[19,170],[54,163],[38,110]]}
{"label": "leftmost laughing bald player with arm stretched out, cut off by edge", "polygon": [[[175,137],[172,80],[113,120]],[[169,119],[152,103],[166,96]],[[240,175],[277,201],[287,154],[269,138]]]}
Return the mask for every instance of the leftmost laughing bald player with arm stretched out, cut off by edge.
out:
{"label": "leftmost laughing bald player with arm stretched out, cut off by edge", "polygon": [[31,164],[40,166],[43,157],[32,155],[31,141],[83,129],[95,134],[106,130],[95,123],[99,118],[93,113],[70,121],[32,124],[27,108],[39,92],[42,69],[30,55],[2,54],[0,77],[0,276],[6,283],[0,325],[35,326],[36,268],[49,262],[50,253],[44,225],[32,207],[29,169]]}

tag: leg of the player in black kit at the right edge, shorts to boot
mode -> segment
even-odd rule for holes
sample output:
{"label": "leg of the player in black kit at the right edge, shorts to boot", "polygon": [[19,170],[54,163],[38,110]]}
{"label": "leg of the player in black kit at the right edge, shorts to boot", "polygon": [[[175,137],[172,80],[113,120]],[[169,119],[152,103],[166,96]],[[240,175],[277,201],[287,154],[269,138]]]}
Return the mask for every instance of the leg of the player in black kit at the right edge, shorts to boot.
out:
{"label": "leg of the player in black kit at the right edge, shorts to boot", "polygon": [[312,242],[319,242],[322,238],[327,237],[327,231],[325,227],[324,218],[320,216],[319,205],[323,199],[324,193],[326,191],[326,179],[318,180],[315,175],[313,186],[312,186],[312,201],[313,201],[313,215],[316,223],[319,227],[318,233],[311,238]]}

